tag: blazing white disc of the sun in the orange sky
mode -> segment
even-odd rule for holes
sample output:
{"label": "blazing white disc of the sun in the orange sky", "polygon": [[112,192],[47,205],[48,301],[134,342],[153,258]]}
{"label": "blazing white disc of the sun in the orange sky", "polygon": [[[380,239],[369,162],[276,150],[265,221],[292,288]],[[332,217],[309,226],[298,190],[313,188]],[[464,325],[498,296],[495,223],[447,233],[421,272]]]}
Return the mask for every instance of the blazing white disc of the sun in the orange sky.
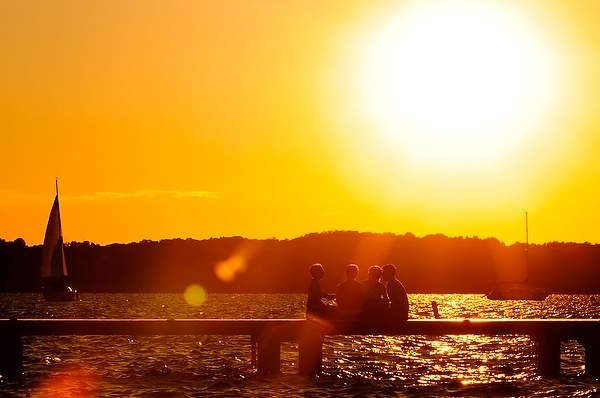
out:
{"label": "blazing white disc of the sun in the orange sky", "polygon": [[404,162],[497,166],[556,99],[556,60],[516,10],[419,1],[376,23],[354,70],[353,108]]}

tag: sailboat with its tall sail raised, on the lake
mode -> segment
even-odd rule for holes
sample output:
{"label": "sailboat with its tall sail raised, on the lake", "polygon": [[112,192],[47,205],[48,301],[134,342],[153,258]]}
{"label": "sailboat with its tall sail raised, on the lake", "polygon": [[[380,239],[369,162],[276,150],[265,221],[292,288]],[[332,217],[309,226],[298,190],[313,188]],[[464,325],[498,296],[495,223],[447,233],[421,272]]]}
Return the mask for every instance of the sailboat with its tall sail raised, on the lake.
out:
{"label": "sailboat with its tall sail raised, on the lake", "polygon": [[56,196],[50,210],[44,246],[42,248],[42,294],[46,301],[74,301],[78,299],[77,290],[68,283],[67,263],[58,205],[58,180],[56,181]]}

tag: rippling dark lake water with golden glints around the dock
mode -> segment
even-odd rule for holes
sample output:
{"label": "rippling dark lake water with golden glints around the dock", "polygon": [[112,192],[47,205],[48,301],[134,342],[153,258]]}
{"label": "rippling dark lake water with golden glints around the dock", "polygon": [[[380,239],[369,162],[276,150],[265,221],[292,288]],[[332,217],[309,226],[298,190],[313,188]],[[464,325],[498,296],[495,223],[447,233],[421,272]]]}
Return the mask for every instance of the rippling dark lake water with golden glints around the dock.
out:
{"label": "rippling dark lake water with golden glints around the dock", "polygon": [[[305,295],[211,294],[190,305],[177,294],[82,294],[48,303],[0,294],[0,318],[304,318]],[[597,300],[598,298],[598,300]],[[600,297],[490,301],[481,295],[409,295],[411,318],[598,318]],[[297,375],[298,350],[282,345],[282,374],[260,376],[244,336],[24,337],[25,375],[0,378],[2,397],[396,397],[595,396],[584,351],[563,343],[562,374],[535,373],[527,336],[332,337],[323,375]],[[600,392],[600,391],[599,391]]]}

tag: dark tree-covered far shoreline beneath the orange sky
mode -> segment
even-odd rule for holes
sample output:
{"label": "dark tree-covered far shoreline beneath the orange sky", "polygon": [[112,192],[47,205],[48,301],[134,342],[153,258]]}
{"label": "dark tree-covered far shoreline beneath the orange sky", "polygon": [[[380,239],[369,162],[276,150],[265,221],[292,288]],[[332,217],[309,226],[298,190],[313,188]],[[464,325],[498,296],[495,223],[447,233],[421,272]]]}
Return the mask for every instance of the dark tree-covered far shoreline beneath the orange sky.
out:
{"label": "dark tree-covered far shoreline beneath the orange sky", "polygon": [[[0,239],[0,291],[40,291],[41,252],[21,238]],[[350,263],[360,267],[358,280],[373,264],[393,263],[409,293],[487,293],[525,280],[554,293],[600,293],[600,245],[590,243],[507,246],[495,238],[330,231],[289,240],[70,242],[65,257],[80,292],[181,293],[198,284],[209,293],[305,293],[308,268],[318,262],[326,291]]]}

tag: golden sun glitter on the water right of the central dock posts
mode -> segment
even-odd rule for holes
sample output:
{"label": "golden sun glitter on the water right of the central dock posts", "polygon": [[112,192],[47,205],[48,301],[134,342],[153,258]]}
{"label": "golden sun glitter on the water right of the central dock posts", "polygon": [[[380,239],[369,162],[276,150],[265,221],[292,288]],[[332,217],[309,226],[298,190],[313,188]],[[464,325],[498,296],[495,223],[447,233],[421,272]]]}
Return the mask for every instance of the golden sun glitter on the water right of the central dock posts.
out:
{"label": "golden sun glitter on the water right of the central dock posts", "polygon": [[[588,297],[569,297],[579,305],[579,317],[598,317],[598,308]],[[433,318],[431,302],[436,301],[443,318],[555,318],[565,311],[559,296],[545,302],[497,302],[482,295],[419,294],[410,297],[411,318]],[[376,380],[404,380],[418,385],[439,383],[480,385],[535,381],[535,344],[529,336],[332,336],[326,346],[333,348],[335,364],[325,358],[326,373],[337,377]],[[327,347],[325,347],[328,352]],[[583,373],[583,347],[564,342],[562,372]],[[340,370],[343,364],[344,370]]]}

